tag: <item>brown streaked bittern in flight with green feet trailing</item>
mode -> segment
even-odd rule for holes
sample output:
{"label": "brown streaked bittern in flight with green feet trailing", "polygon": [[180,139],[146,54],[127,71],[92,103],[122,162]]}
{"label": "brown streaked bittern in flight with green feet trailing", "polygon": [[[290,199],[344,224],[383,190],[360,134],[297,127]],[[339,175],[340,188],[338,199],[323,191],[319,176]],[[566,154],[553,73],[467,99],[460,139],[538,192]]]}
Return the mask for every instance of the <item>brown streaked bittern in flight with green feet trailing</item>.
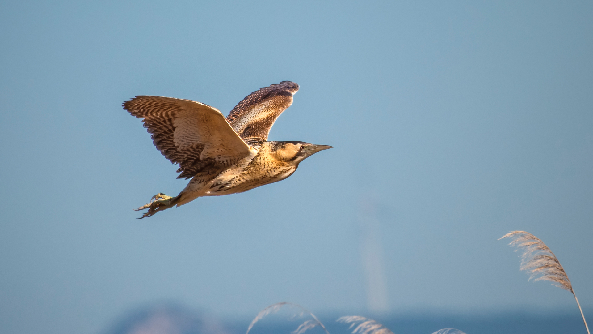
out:
{"label": "brown streaked bittern in flight with green feet trailing", "polygon": [[[282,81],[249,94],[225,118],[204,103],[139,95],[123,109],[141,118],[152,143],[171,163],[177,178],[191,180],[175,197],[158,193],[141,218],[202,196],[221,196],[278,182],[314,153],[331,149],[303,141],[267,141],[276,118],[292,104],[298,84]],[[139,218],[139,219],[141,219]]]}

